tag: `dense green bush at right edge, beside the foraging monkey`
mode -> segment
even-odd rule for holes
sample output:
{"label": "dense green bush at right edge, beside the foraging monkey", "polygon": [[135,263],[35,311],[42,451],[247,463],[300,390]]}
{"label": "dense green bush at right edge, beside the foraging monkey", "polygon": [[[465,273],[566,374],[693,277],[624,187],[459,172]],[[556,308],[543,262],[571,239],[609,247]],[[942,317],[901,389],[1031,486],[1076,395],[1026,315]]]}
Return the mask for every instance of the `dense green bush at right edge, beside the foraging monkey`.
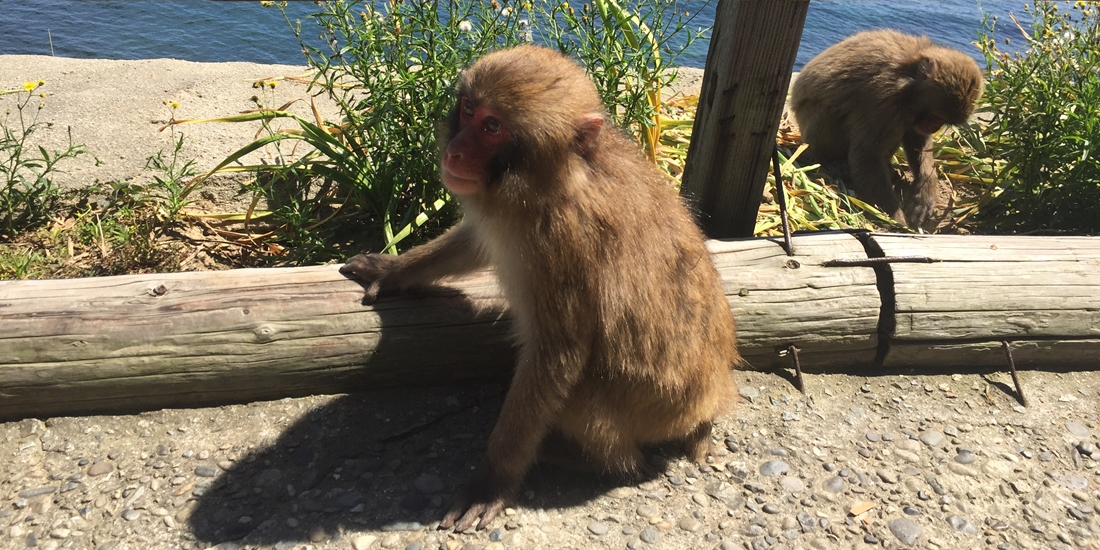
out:
{"label": "dense green bush at right edge, beside the foraging monkey", "polygon": [[1100,10],[1059,3],[1027,8],[1021,54],[998,50],[992,19],[979,43],[989,122],[969,143],[990,161],[976,220],[996,231],[1100,231]]}

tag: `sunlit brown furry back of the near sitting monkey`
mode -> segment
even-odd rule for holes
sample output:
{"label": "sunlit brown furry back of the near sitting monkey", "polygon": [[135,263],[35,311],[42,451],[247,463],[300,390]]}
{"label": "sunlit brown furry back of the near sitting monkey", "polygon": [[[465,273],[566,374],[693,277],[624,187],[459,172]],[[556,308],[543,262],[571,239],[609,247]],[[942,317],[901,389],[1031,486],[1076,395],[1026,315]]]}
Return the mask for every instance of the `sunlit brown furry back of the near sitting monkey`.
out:
{"label": "sunlit brown furry back of the near sitting monkey", "polygon": [[600,154],[619,162],[605,163],[588,187],[598,196],[581,201],[595,206],[585,216],[600,229],[588,296],[600,319],[587,383],[562,428],[614,422],[637,442],[666,441],[733,406],[736,329],[691,213],[634,143],[608,133]]}

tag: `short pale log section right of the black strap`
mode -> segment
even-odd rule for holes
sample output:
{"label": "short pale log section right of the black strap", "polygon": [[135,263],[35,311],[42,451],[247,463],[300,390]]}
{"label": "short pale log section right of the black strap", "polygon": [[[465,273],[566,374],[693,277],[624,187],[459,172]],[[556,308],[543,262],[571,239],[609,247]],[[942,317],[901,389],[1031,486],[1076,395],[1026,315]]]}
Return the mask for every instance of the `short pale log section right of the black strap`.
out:
{"label": "short pale log section right of the black strap", "polygon": [[1100,365],[1100,239],[875,234],[897,329],[883,364]]}

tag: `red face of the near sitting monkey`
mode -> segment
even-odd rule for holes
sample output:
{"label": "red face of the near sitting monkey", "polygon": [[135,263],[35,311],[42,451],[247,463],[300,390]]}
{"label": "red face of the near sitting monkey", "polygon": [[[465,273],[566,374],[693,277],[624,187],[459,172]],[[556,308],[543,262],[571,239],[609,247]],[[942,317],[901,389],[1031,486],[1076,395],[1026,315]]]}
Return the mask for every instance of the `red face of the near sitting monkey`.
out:
{"label": "red face of the near sitting monkey", "polygon": [[476,195],[488,183],[490,161],[508,142],[509,132],[496,111],[469,96],[459,99],[458,127],[443,151],[443,185],[459,197]]}

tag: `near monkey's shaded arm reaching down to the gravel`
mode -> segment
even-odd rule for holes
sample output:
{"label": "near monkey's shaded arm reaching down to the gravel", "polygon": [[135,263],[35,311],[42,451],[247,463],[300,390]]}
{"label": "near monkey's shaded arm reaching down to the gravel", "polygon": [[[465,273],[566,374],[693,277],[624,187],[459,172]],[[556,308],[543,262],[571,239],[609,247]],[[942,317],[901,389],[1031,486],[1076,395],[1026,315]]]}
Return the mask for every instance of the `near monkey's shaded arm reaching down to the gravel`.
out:
{"label": "near monkey's shaded arm reaching down to the gravel", "polygon": [[477,529],[484,529],[519,491],[539,446],[576,386],[588,354],[588,348],[578,345],[578,340],[566,344],[564,340],[551,342],[553,338],[525,340],[530,343],[520,350],[485,458],[440,528],[453,526],[464,531],[477,522]]}

